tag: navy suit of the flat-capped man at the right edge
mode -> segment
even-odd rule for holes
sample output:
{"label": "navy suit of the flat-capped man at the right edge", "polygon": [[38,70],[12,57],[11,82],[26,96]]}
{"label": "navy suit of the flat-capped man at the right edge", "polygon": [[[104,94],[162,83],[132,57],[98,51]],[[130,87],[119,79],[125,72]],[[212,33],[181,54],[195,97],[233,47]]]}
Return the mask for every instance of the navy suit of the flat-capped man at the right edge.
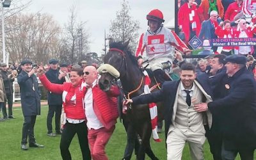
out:
{"label": "navy suit of the flat-capped man at the right edge", "polygon": [[216,83],[225,96],[209,102],[208,107],[213,116],[225,114],[222,127],[225,150],[248,150],[244,156],[251,156],[256,148],[256,82],[252,73],[243,67],[232,77],[220,74]]}

